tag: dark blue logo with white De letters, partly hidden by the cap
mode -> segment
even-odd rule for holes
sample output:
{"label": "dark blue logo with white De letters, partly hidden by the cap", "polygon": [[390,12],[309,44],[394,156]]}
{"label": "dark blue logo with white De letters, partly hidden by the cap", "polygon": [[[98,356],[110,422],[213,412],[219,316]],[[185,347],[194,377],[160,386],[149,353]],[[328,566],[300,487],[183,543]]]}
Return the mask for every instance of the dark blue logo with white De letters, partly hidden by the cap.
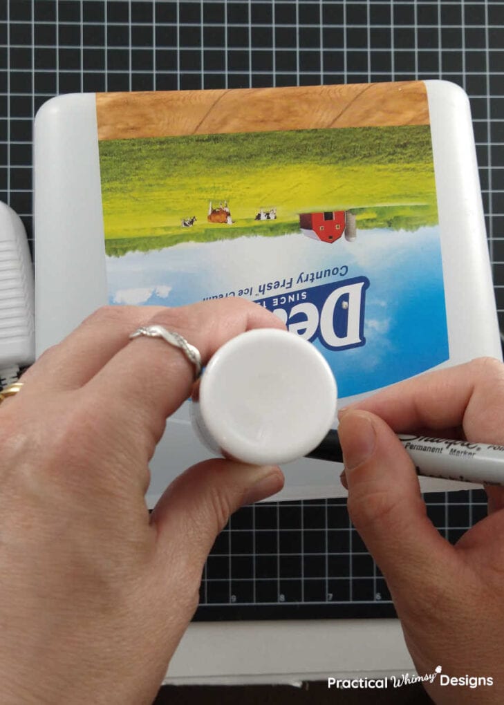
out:
{"label": "dark blue logo with white De letters, partly hidden by the cap", "polygon": [[317,338],[328,350],[366,344],[364,306],[369,279],[359,276],[258,301],[281,319],[288,330],[307,341]]}

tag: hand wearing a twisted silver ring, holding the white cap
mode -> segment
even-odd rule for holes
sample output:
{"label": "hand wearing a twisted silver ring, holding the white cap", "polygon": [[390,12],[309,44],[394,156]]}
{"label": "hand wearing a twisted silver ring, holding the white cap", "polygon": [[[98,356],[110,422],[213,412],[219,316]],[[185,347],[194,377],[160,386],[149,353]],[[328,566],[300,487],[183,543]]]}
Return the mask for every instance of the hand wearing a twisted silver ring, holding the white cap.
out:
{"label": "hand wearing a twisted silver ring, holding the white cap", "polygon": [[[150,703],[198,603],[204,561],[277,467],[207,460],[149,517],[149,460],[190,396],[192,365],[247,329],[283,327],[241,300],[99,309],[0,406],[0,682],[4,705]],[[183,468],[180,468],[183,470]]]}

